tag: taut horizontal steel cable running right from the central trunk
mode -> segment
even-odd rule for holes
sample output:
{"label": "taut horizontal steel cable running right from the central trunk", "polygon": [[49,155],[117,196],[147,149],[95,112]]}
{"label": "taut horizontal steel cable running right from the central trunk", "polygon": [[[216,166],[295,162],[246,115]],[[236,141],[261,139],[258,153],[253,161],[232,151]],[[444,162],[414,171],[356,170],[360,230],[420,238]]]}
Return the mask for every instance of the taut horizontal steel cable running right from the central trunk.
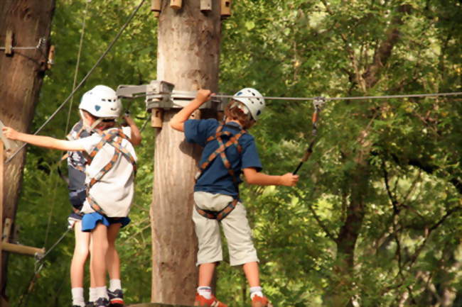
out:
{"label": "taut horizontal steel cable running right from the central trunk", "polygon": [[[452,93],[435,93],[435,94],[406,94],[406,95],[384,95],[384,96],[353,96],[353,97],[325,97],[326,101],[330,100],[362,100],[362,99],[393,99],[393,98],[411,98],[411,97],[438,97],[438,96],[462,96],[462,91]],[[218,98],[235,98],[233,95],[213,95]],[[240,98],[255,98],[254,96],[239,96]],[[318,97],[274,97],[263,96],[268,100],[294,100],[294,101],[307,101],[315,100]]]}

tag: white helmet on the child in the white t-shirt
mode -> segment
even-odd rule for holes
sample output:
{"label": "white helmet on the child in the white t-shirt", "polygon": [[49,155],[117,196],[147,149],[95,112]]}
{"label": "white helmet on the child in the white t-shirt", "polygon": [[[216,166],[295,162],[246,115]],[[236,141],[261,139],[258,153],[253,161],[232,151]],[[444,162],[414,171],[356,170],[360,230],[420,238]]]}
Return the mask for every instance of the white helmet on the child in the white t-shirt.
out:
{"label": "white helmet on the child in the white t-shirt", "polygon": [[97,85],[83,94],[79,108],[98,118],[118,118],[122,103],[117,99],[114,89]]}

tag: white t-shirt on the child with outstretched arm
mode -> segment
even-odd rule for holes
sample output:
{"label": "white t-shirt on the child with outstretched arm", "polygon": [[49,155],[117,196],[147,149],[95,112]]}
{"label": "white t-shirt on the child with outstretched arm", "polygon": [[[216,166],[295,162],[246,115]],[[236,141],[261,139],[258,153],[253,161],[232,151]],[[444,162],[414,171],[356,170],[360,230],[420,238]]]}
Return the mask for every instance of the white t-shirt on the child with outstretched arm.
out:
{"label": "white t-shirt on the child with outstretched arm", "polygon": [[[122,131],[128,138],[131,138],[130,127],[123,127]],[[93,133],[87,138],[81,138],[72,142],[79,143],[90,154],[93,148],[100,143],[101,139],[101,135]],[[122,147],[127,149],[136,161],[135,150],[128,140],[122,140]],[[85,174],[87,175],[85,179],[86,184],[89,184],[90,180],[112,159],[114,151],[115,149],[112,145],[105,144],[97,152],[92,163],[87,165],[85,169]],[[120,154],[117,162],[114,163],[114,167],[91,187],[89,193],[107,216],[112,218],[128,216],[134,196],[134,172],[131,162],[124,155]],[[95,211],[90,206],[90,203],[85,200],[82,213],[92,212]]]}

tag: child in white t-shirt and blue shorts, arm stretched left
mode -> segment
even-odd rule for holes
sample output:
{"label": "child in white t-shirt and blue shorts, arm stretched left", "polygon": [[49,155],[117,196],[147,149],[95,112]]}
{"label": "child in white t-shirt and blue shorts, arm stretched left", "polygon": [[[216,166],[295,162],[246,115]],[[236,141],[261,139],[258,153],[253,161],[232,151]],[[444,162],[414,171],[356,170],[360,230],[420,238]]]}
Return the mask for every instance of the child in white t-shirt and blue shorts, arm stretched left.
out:
{"label": "child in white t-shirt and blue shorts, arm stretched left", "polygon": [[[6,138],[57,150],[85,151],[87,199],[82,207],[82,231],[91,232],[91,287],[96,290],[96,307],[123,305],[122,289],[109,293],[106,288],[106,261],[119,271],[115,239],[119,229],[129,223],[128,213],[134,196],[136,154],[130,143],[129,127],[117,128],[115,118],[122,104],[115,91],[98,85],[87,91],[80,102],[85,125],[95,127],[87,138],[59,140],[41,135],[29,135],[4,127]],[[117,264],[117,265],[116,265]],[[111,275],[113,276],[113,274]],[[120,284],[120,281],[119,281]],[[120,286],[120,285],[118,285]],[[109,297],[111,296],[111,297]]]}

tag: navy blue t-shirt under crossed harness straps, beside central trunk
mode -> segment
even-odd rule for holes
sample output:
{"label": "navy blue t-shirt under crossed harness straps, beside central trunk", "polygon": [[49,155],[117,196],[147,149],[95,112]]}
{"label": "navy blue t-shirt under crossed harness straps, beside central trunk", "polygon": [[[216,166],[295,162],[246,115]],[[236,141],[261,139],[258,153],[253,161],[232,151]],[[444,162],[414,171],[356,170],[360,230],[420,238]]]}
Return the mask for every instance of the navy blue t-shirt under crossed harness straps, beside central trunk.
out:
{"label": "navy blue t-shirt under crossed harness straps, beside central trunk", "polygon": [[[216,119],[190,119],[184,124],[186,140],[189,143],[196,143],[204,147],[199,165],[207,161],[208,157],[215,152],[219,146],[217,140],[212,140],[206,144],[206,140],[211,135],[215,135],[218,125],[220,125],[220,123],[218,123]],[[235,128],[231,128],[230,126]],[[227,125],[223,127],[223,131],[230,131],[233,135],[239,133],[240,130],[240,125],[234,122],[227,123]],[[228,140],[227,136],[223,136],[222,140],[223,143],[226,143]],[[242,147],[241,153],[237,151],[235,145],[232,145],[227,147],[225,154],[232,169],[235,171],[235,176],[238,178],[239,182],[242,182],[240,179],[242,169],[253,167],[259,172],[262,170],[262,162],[260,162],[257,147],[252,135],[244,133],[239,138],[238,142]],[[232,181],[232,177],[228,173],[225,164],[223,164],[220,155],[217,155],[215,160],[210,162],[203,174],[198,178],[194,186],[194,191],[205,191],[212,194],[225,194],[230,196],[237,196],[239,194],[239,190]]]}

